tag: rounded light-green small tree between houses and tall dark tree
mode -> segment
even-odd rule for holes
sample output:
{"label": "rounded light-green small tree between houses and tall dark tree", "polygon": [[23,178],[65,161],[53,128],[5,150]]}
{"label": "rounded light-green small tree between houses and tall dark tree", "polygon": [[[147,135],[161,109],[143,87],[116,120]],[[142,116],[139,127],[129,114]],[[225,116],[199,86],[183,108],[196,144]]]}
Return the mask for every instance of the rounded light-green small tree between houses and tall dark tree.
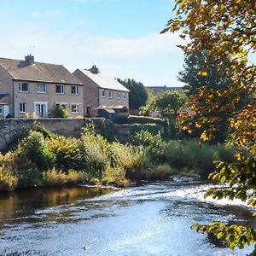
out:
{"label": "rounded light-green small tree between houses and tall dark tree", "polygon": [[158,110],[161,113],[174,112],[185,107],[187,97],[183,92],[177,90],[167,90],[155,96],[154,99],[154,110]]}

